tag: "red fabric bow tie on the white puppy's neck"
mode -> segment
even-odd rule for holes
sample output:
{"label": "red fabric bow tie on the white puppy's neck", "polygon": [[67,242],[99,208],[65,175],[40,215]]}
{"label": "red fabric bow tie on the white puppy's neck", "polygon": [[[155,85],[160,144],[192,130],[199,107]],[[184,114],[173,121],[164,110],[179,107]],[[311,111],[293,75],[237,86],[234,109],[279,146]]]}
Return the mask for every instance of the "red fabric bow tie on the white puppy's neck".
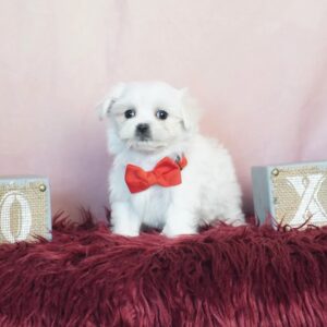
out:
{"label": "red fabric bow tie on the white puppy's neck", "polygon": [[185,157],[175,161],[165,157],[150,171],[144,171],[137,166],[128,165],[125,182],[131,193],[145,191],[156,184],[164,187],[179,185],[182,182],[181,170],[186,165],[187,160]]}

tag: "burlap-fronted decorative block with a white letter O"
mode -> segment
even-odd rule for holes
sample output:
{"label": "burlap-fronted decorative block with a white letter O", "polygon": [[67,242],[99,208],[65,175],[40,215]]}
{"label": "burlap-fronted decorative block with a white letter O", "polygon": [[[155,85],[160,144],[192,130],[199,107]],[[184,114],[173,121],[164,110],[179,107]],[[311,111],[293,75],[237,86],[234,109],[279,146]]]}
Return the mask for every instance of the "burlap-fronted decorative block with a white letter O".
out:
{"label": "burlap-fronted decorative block with a white letter O", "polygon": [[0,242],[50,240],[51,226],[48,179],[0,178]]}

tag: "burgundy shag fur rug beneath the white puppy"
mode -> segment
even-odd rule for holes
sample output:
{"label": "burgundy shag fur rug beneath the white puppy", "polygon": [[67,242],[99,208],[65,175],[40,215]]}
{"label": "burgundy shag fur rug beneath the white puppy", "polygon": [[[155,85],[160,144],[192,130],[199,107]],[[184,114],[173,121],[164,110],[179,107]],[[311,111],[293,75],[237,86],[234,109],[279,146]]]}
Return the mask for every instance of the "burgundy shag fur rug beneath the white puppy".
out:
{"label": "burgundy shag fur rug beneath the white puppy", "polygon": [[113,235],[84,214],[0,246],[0,326],[326,326],[327,228]]}

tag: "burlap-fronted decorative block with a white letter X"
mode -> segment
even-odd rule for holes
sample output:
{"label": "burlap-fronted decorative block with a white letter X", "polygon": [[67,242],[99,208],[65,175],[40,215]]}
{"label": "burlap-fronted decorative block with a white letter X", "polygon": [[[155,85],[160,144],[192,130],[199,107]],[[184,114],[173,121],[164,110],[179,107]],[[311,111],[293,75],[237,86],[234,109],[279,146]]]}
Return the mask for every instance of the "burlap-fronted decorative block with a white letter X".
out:
{"label": "burlap-fronted decorative block with a white letter X", "polygon": [[277,225],[327,225],[327,162],[252,168],[255,214]]}

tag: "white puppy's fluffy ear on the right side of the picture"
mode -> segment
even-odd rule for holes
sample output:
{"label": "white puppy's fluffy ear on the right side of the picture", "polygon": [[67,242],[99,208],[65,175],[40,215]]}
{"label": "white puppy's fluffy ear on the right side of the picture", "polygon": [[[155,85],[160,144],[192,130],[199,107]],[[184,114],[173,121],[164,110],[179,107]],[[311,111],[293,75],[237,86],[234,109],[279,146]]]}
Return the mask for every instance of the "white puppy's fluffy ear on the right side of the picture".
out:
{"label": "white puppy's fluffy ear on the right side of the picture", "polygon": [[190,95],[187,88],[180,89],[182,104],[182,124],[185,131],[197,131],[201,111],[196,100]]}

